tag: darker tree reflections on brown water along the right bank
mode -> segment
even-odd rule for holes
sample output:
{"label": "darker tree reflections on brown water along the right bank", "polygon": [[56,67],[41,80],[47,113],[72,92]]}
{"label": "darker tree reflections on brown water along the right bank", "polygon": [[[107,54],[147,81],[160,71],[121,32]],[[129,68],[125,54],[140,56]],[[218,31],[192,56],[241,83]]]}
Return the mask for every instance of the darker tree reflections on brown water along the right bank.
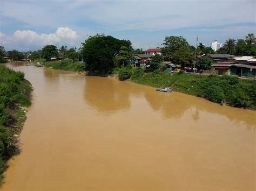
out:
{"label": "darker tree reflections on brown water along the right bank", "polygon": [[186,112],[194,121],[198,121],[201,111],[226,116],[238,124],[245,123],[248,129],[256,128],[255,111],[224,107],[203,98],[180,93],[159,93],[150,87],[121,82],[109,77],[86,77],[84,99],[101,114],[109,115],[130,109],[132,97],[145,98],[150,107],[161,112],[165,119],[178,119]]}

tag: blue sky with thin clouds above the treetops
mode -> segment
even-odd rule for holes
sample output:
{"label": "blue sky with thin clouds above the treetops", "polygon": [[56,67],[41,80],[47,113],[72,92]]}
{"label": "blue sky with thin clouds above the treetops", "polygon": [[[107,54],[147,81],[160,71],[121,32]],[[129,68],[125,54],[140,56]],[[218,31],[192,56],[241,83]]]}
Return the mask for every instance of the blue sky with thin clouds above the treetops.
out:
{"label": "blue sky with thin clouds above the treetops", "polygon": [[0,46],[35,51],[80,47],[91,35],[129,39],[134,48],[163,46],[166,36],[191,45],[256,34],[255,0],[0,0]]}

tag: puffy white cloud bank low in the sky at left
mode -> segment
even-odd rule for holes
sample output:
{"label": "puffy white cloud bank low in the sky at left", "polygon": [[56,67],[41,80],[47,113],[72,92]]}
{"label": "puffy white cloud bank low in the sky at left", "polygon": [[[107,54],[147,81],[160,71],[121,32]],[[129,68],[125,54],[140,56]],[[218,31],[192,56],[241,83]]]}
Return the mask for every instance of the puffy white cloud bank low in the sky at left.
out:
{"label": "puffy white cloud bank low in the sky at left", "polygon": [[[0,40],[6,49],[12,47],[18,49],[35,49],[42,48],[44,45],[49,44],[74,46],[77,44],[79,36],[76,31],[73,31],[69,27],[58,27],[55,33],[50,34],[38,34],[30,30],[17,30],[12,36],[0,33]],[[22,50],[25,51],[25,49]]]}

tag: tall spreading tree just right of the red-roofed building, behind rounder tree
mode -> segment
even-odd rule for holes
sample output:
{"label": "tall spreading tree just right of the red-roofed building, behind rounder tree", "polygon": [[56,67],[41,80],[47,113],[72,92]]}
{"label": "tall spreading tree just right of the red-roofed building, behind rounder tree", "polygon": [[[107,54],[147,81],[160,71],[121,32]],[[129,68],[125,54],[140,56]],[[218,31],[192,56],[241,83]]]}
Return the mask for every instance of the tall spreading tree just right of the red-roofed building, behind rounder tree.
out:
{"label": "tall spreading tree just right of the red-roofed building, behind rounder tree", "polygon": [[187,40],[181,36],[165,37],[163,45],[164,48],[162,50],[162,53],[165,56],[165,58],[169,59],[172,58],[174,52],[177,51],[180,47],[189,46]]}

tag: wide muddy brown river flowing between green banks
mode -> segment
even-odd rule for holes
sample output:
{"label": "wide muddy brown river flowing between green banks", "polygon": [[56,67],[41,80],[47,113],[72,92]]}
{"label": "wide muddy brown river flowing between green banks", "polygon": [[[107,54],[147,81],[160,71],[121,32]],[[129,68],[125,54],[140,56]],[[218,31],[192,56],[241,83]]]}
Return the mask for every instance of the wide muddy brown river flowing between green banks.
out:
{"label": "wide muddy brown river flowing between green banks", "polygon": [[1,190],[255,190],[256,112],[8,64],[33,104]]}

